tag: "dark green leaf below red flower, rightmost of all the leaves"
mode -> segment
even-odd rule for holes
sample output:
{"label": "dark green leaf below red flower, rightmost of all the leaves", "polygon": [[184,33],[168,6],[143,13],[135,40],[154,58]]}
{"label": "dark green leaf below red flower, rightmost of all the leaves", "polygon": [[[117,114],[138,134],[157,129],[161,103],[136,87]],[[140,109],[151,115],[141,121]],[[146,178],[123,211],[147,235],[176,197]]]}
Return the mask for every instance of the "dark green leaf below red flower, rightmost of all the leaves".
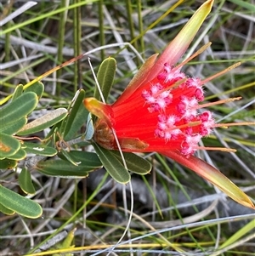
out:
{"label": "dark green leaf below red flower, rightmost of all the leaves", "polygon": [[[122,157],[119,151],[111,151],[111,153],[118,158],[119,161],[122,161]],[[143,157],[135,155],[133,153],[123,152],[123,156],[127,163],[128,171],[135,174],[149,174],[151,171],[151,164]]]}

